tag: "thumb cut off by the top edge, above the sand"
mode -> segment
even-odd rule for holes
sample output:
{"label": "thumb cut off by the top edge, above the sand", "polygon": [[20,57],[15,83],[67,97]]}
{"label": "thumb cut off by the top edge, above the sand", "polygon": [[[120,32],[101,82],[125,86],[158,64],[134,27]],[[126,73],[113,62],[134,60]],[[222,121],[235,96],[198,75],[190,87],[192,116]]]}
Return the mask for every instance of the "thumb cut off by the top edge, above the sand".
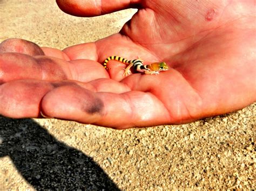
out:
{"label": "thumb cut off by the top edge, above the sand", "polygon": [[93,17],[114,11],[138,8],[140,0],[56,0],[59,8],[70,15]]}

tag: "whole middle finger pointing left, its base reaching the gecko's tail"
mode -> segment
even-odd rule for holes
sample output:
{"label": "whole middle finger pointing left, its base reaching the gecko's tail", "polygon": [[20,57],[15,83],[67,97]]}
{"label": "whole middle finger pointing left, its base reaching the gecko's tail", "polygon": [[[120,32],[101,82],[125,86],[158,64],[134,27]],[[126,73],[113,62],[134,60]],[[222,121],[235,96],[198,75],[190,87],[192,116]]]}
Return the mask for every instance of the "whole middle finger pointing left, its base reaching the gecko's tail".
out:
{"label": "whole middle finger pointing left, its base reaching the gecko's tail", "polygon": [[64,61],[47,56],[34,58],[19,53],[0,53],[0,82],[18,79],[77,80],[87,82],[109,77],[100,63],[91,60]]}

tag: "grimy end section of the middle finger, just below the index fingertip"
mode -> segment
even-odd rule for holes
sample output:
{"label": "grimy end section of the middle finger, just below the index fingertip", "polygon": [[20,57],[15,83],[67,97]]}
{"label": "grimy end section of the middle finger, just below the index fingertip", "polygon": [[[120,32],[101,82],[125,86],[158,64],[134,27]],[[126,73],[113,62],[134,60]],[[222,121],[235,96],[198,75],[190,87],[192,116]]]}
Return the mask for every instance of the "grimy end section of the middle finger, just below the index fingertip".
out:
{"label": "grimy end section of the middle finger, just below the index fingertip", "polygon": [[18,79],[67,80],[72,79],[68,62],[39,56],[33,58],[19,53],[0,54],[1,82]]}

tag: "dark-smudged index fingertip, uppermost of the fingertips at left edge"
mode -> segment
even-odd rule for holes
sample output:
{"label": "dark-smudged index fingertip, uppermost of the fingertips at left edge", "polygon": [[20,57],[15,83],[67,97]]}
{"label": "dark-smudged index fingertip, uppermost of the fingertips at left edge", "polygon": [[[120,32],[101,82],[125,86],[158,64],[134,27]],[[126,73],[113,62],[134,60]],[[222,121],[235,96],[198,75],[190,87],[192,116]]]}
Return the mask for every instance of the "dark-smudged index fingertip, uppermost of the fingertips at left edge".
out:
{"label": "dark-smudged index fingertip, uppermost of the fingertips at left edge", "polygon": [[27,55],[44,55],[43,50],[37,44],[23,39],[6,39],[0,44],[0,53],[16,52]]}

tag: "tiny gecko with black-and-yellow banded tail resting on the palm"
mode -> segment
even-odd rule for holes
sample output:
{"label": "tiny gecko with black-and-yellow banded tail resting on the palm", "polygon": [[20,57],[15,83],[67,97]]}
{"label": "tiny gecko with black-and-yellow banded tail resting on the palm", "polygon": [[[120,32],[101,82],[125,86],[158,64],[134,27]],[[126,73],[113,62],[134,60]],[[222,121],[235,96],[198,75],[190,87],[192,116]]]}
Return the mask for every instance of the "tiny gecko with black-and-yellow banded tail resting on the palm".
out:
{"label": "tiny gecko with black-and-yellow banded tail resting on the palm", "polygon": [[150,65],[143,65],[143,62],[144,62],[143,60],[140,60],[140,59],[127,60],[120,56],[109,56],[104,61],[104,64],[103,64],[105,69],[109,69],[107,68],[107,62],[109,62],[110,60],[117,60],[128,65],[124,69],[125,70],[123,74],[124,76],[131,74],[131,67],[133,67],[134,70],[136,70],[137,72],[141,72],[145,74],[159,74],[160,71],[169,70],[169,67],[165,62],[155,62],[155,63],[151,63]]}

